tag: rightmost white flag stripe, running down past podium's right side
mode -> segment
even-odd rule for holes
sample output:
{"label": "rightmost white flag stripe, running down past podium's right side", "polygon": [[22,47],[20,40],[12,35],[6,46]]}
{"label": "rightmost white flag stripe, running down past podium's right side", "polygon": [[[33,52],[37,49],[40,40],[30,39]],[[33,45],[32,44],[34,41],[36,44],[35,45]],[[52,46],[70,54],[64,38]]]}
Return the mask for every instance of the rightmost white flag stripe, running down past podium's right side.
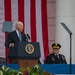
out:
{"label": "rightmost white flag stripe, running down past podium's right side", "polygon": [[42,20],[41,20],[41,0],[36,0],[36,32],[37,42],[40,42],[41,58],[40,61],[43,63],[44,60],[44,47],[42,40]]}

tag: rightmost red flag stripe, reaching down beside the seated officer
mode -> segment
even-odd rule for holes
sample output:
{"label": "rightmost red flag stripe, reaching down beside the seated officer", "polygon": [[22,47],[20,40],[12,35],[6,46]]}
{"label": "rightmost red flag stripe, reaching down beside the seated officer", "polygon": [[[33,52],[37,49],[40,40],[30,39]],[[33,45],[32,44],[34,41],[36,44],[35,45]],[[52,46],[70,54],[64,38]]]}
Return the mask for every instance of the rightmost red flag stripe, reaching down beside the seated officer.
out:
{"label": "rightmost red flag stripe, reaching down beside the seated officer", "polygon": [[44,45],[44,55],[45,57],[49,54],[48,47],[48,24],[47,24],[47,0],[41,0],[42,6],[42,36]]}

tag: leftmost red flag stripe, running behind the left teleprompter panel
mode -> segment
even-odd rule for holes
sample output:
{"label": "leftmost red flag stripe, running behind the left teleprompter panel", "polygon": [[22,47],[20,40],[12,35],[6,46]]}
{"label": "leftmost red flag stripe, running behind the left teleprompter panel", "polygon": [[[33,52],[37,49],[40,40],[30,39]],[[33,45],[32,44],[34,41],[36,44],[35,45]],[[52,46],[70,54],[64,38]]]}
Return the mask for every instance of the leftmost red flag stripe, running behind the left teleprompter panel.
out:
{"label": "leftmost red flag stripe, running behind the left teleprompter panel", "polygon": [[[4,0],[5,8],[5,21],[11,21],[11,0]],[[5,34],[5,40],[7,39],[8,33]],[[6,58],[8,57],[9,48],[6,48]],[[10,62],[10,60],[8,60]]]}

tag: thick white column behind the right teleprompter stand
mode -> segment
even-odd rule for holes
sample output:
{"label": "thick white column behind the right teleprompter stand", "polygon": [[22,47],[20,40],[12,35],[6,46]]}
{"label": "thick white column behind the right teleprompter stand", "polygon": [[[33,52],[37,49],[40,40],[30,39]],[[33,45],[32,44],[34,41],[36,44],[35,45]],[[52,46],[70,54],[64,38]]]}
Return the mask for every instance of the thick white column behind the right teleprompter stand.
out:
{"label": "thick white column behind the right teleprompter stand", "polygon": [[72,63],[75,64],[75,0],[56,0],[56,42],[61,44],[60,53],[70,63],[70,35],[61,22],[72,31]]}

